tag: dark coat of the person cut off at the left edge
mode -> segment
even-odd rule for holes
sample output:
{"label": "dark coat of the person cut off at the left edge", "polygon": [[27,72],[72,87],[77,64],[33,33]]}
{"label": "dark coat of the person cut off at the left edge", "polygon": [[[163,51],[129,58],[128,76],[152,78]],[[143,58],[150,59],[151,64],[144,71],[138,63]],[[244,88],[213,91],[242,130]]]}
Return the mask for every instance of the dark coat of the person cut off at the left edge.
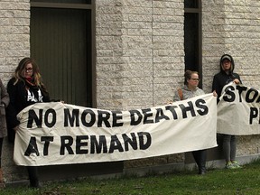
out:
{"label": "dark coat of the person cut off at the left edge", "polygon": [[0,79],[0,97],[1,97],[1,105],[0,105],[0,137],[5,137],[7,135],[7,127],[6,127],[6,119],[5,119],[5,107],[9,104],[9,95],[5,89],[5,86]]}

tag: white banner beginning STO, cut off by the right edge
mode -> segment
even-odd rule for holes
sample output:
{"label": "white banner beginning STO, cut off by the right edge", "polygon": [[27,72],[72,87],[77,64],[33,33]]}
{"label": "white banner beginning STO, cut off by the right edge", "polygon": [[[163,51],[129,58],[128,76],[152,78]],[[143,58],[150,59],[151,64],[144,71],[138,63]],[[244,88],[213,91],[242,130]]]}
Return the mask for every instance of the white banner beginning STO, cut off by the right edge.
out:
{"label": "white banner beginning STO, cut off by the right edge", "polygon": [[259,90],[230,83],[223,88],[219,99],[218,133],[260,134]]}

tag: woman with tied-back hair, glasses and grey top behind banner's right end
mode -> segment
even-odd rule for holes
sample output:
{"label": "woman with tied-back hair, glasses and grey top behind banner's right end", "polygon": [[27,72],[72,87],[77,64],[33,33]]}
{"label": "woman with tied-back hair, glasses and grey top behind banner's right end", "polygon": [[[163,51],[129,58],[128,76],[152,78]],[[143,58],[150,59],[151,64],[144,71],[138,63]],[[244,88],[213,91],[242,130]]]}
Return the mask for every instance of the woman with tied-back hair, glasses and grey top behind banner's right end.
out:
{"label": "woman with tied-back hair, glasses and grey top behind banner's right end", "polygon": [[[186,70],[184,73],[184,86],[175,91],[173,101],[180,101],[205,94],[205,92],[198,87],[199,81],[199,73],[197,71]],[[213,93],[213,95],[217,96],[215,93]],[[205,174],[207,161],[206,149],[193,151],[192,155],[198,165],[199,174]]]}

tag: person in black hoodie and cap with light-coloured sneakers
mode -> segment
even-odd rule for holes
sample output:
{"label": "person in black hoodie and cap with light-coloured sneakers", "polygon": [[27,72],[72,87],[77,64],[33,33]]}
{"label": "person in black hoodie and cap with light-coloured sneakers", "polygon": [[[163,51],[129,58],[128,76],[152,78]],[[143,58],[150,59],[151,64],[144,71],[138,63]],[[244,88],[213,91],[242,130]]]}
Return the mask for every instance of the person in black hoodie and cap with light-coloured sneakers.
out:
{"label": "person in black hoodie and cap with light-coloured sneakers", "polygon": [[[239,75],[233,72],[235,68],[235,62],[231,55],[224,54],[220,58],[220,71],[214,76],[212,83],[212,91],[217,92],[218,100],[221,96],[222,88],[229,82],[236,84],[242,83]],[[223,137],[223,152],[226,160],[227,169],[240,168],[240,165],[236,161],[236,136],[235,135],[222,135]]]}

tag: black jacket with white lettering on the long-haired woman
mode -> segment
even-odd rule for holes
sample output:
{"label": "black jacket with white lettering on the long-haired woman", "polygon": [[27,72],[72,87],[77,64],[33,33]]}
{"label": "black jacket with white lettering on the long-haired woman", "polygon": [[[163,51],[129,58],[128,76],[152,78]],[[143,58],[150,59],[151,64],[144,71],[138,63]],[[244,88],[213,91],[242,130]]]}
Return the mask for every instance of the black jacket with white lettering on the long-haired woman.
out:
{"label": "black jacket with white lettering on the long-haired woman", "polygon": [[10,97],[10,104],[6,108],[6,121],[8,127],[8,139],[14,142],[14,127],[19,125],[17,120],[17,114],[32,104],[39,102],[50,102],[50,97],[46,89],[41,86],[33,86],[25,80],[19,80],[15,83],[15,79],[12,78],[7,84],[7,91]]}

